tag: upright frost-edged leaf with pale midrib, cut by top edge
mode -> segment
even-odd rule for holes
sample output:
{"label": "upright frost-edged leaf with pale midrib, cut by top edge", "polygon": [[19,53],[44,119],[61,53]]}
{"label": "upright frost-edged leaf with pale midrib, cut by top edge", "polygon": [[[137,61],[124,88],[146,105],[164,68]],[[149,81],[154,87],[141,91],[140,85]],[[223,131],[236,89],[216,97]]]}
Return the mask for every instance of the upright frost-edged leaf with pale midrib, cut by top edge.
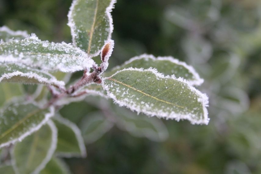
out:
{"label": "upright frost-edged leaf with pale midrib, cut by top edge", "polygon": [[74,0],[68,13],[73,45],[97,56],[106,41],[111,39],[111,11],[116,0]]}

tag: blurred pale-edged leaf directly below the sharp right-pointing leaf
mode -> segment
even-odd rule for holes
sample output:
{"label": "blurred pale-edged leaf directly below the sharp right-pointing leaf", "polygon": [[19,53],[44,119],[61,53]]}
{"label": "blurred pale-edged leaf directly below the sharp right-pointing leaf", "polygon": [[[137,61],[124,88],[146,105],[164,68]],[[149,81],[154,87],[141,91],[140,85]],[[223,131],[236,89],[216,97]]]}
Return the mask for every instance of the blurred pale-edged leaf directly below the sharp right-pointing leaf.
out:
{"label": "blurred pale-edged leaf directly below the sharp right-pointing leaf", "polygon": [[146,137],[149,140],[159,142],[168,138],[168,130],[159,118],[149,118],[144,114],[137,115],[121,107],[114,108],[117,114],[116,125],[132,136]]}

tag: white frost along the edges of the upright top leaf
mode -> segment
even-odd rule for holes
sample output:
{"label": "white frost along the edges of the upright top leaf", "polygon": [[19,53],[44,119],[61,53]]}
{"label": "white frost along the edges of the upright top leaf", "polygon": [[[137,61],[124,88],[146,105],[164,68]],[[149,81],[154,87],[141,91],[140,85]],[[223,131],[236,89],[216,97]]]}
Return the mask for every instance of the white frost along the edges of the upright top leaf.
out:
{"label": "white frost along the edges of the upright top leaf", "polygon": [[[67,25],[70,27],[71,29],[71,35],[72,35],[72,39],[73,39],[73,45],[74,46],[77,46],[76,45],[76,42],[75,42],[75,38],[77,38],[77,34],[74,32],[76,31],[76,27],[75,27],[75,24],[73,22],[73,18],[71,17],[72,16],[72,13],[73,13],[73,8],[74,6],[76,5],[78,0],[73,0],[72,2],[72,5],[70,6],[70,10],[69,10],[69,13],[68,13],[68,23]],[[114,4],[117,2],[117,0],[111,0],[109,6],[106,8],[105,10],[105,13],[107,14],[107,17],[109,19],[109,34],[108,34],[108,38],[107,40],[105,40],[104,42],[109,42],[109,40],[111,40],[112,38],[112,33],[113,33],[113,18],[112,18],[112,15],[111,15],[111,12],[112,10],[114,9]],[[99,53],[101,52],[102,49],[98,50],[96,53],[94,54],[90,54],[91,57],[95,57],[95,56],[98,56]]]}

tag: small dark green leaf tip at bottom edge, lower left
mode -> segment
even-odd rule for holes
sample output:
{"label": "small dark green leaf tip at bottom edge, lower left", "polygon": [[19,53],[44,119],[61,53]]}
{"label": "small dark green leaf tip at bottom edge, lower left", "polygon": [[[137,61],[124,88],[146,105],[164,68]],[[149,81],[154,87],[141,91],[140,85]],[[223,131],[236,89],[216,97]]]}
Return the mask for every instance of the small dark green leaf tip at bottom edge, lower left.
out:
{"label": "small dark green leaf tip at bottom edge, lower left", "polygon": [[70,174],[69,167],[59,158],[52,157],[40,174]]}

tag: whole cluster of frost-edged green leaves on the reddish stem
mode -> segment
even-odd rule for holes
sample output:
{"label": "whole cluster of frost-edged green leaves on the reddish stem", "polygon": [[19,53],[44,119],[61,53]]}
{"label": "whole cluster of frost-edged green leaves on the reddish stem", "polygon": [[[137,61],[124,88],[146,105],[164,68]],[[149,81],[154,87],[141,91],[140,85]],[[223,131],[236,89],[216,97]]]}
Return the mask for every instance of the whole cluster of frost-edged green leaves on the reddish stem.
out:
{"label": "whole cluster of frost-edged green leaves on the reddish stem", "polygon": [[[10,164],[0,170],[69,173],[57,156],[85,157],[84,140],[94,142],[113,125],[155,141],[168,136],[159,120],[125,115],[125,109],[118,107],[111,114],[106,111],[111,106],[103,100],[98,103],[103,113],[89,114],[81,131],[58,114],[63,105],[89,95],[111,98],[119,106],[148,116],[208,124],[208,97],[194,87],[203,79],[186,63],[143,54],[104,72],[114,47],[110,14],[114,3],[74,0],[68,14],[73,44],[41,41],[35,34],[0,28],[0,147],[8,146],[2,152],[3,161],[10,158]],[[92,58],[99,54],[98,66]],[[84,74],[76,82],[67,74],[82,70]],[[23,95],[22,83],[47,87]],[[5,150],[10,150],[10,156]]]}

